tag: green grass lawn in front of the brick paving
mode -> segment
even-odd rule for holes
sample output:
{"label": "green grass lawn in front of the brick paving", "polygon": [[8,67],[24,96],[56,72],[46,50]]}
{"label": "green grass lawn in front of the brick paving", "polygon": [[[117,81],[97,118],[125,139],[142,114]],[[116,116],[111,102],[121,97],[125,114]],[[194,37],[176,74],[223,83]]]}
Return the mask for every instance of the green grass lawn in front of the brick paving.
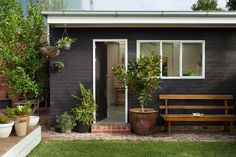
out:
{"label": "green grass lawn in front of the brick paving", "polygon": [[49,141],[29,157],[235,157],[236,143],[151,141]]}

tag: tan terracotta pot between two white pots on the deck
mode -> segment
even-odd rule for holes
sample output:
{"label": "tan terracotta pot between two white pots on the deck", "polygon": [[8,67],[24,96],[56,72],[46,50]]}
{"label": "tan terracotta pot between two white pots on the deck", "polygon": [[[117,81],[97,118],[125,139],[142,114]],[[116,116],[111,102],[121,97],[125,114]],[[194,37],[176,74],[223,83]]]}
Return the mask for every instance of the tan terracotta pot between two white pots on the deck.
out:
{"label": "tan terracotta pot between two white pots on the deck", "polygon": [[17,116],[15,117],[15,132],[16,136],[25,136],[27,133],[29,116]]}

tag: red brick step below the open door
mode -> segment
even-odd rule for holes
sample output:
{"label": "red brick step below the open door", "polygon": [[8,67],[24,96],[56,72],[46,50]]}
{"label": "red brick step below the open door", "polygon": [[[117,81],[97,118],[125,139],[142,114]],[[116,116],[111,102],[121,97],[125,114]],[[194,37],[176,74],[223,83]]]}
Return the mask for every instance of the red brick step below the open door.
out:
{"label": "red brick step below the open door", "polygon": [[130,124],[97,123],[91,128],[92,133],[130,133]]}

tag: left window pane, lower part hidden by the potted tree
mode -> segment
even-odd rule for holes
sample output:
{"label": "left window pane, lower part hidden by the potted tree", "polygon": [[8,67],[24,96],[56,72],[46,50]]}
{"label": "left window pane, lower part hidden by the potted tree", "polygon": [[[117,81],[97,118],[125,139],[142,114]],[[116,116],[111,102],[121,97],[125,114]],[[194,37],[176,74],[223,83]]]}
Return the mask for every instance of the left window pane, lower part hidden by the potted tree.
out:
{"label": "left window pane, lower part hidden by the potted tree", "polygon": [[151,52],[160,54],[160,43],[159,42],[143,42],[140,43],[140,55],[146,56]]}

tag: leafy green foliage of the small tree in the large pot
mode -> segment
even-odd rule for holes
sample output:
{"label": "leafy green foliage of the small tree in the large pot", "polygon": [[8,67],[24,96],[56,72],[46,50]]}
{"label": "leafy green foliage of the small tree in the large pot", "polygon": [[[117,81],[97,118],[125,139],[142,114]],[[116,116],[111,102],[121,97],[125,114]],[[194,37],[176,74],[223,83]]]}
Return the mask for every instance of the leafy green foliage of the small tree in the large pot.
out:
{"label": "leafy green foliage of the small tree in the large pot", "polygon": [[143,108],[151,101],[152,94],[160,88],[160,56],[151,53],[132,61],[126,71],[124,65],[112,67],[115,78],[126,84]]}

